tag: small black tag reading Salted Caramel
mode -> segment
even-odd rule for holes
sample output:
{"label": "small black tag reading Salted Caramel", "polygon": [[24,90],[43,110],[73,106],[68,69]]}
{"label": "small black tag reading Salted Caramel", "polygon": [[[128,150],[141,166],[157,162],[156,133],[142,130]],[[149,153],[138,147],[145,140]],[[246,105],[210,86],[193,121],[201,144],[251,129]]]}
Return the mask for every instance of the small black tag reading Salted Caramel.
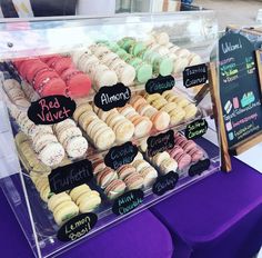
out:
{"label": "small black tag reading Salted Caramel", "polygon": [[187,126],[184,135],[189,140],[196,139],[203,136],[208,128],[209,126],[205,119],[199,119]]}

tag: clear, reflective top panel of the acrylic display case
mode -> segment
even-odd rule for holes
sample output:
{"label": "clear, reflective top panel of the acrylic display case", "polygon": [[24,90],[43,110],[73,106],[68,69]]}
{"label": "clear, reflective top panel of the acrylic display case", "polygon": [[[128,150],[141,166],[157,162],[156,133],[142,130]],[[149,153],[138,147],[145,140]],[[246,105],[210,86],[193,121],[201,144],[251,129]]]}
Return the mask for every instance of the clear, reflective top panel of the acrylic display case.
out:
{"label": "clear, reflective top panel of the acrylic display case", "polygon": [[97,40],[122,37],[145,39],[152,29],[169,31],[175,42],[214,41],[218,31],[213,11],[118,14],[115,17],[53,17],[0,20],[1,59],[67,52]]}

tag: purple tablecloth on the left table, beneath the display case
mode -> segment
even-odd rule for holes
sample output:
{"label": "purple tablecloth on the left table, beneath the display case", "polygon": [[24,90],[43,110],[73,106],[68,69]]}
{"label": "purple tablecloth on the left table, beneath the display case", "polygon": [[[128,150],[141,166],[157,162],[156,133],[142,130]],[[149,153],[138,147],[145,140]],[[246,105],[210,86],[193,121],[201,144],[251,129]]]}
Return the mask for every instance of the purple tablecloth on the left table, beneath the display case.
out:
{"label": "purple tablecloth on the left table, beneath the display case", "polygon": [[[31,258],[31,249],[0,191],[1,257]],[[145,210],[61,255],[63,258],[168,258],[173,244],[162,222]]]}

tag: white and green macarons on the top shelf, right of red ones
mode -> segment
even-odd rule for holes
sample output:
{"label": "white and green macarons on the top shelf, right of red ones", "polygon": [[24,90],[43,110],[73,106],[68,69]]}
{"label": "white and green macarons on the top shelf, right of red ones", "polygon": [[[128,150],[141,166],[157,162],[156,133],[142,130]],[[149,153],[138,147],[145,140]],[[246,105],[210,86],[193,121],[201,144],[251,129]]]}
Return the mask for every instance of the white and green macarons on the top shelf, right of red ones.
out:
{"label": "white and green macarons on the top shelf, right of red ones", "polygon": [[118,43],[103,41],[71,53],[74,64],[88,73],[97,89],[117,82],[145,83],[154,76],[181,72],[201,62],[200,56],[171,42],[167,46],[123,38]]}

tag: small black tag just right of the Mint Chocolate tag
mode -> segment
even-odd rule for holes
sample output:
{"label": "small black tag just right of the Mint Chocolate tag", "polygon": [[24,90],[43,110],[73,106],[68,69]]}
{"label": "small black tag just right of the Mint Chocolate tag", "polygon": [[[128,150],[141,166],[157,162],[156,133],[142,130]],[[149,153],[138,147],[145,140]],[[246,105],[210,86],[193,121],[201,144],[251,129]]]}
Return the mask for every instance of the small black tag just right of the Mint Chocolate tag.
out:
{"label": "small black tag just right of the Mint Chocolate tag", "polygon": [[179,175],[174,171],[170,171],[164,176],[158,177],[152,187],[152,191],[157,196],[162,196],[167,191],[173,190],[179,180]]}

